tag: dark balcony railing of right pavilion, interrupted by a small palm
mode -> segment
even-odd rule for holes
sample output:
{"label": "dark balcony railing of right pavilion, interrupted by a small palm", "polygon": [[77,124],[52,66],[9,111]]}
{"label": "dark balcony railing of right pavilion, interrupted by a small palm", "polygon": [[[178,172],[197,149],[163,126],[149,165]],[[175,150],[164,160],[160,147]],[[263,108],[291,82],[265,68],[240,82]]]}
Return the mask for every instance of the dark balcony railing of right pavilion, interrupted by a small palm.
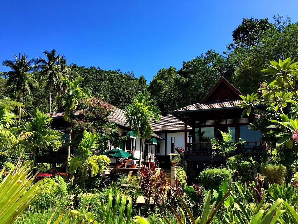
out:
{"label": "dark balcony railing of right pavilion, interrupted by a small palm", "polygon": [[[264,146],[263,142],[245,142],[241,145],[238,145],[235,151],[232,151],[231,154],[250,154],[250,153],[263,153]],[[201,153],[201,154],[211,154],[212,145],[211,142],[190,142],[187,144],[187,153]]]}

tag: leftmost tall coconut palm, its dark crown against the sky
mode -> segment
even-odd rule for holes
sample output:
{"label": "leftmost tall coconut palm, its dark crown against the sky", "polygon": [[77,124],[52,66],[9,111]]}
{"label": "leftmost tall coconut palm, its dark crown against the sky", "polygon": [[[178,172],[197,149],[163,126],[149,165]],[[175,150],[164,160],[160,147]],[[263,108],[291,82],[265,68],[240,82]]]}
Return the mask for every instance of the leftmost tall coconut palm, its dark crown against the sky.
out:
{"label": "leftmost tall coconut palm, its dark crown against the sky", "polygon": [[19,53],[18,56],[16,54],[14,55],[13,61],[4,60],[2,62],[3,66],[10,67],[12,70],[5,73],[5,75],[8,76],[6,85],[12,86],[12,89],[18,98],[18,102],[20,103],[18,106],[19,122],[21,121],[21,100],[25,93],[30,94],[29,83],[38,85],[31,73],[34,70],[34,66],[31,65],[34,62],[34,59],[28,61],[27,58],[27,55],[21,55],[21,53]]}

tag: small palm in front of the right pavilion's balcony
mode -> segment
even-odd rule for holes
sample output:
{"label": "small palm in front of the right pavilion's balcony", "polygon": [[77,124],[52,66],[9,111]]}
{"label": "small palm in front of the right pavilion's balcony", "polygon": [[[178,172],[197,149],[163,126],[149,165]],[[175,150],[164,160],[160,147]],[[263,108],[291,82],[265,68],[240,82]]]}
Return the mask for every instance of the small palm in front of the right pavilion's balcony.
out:
{"label": "small palm in front of the right pavilion's balcony", "polygon": [[[211,139],[211,145],[212,149],[216,151],[212,151],[211,158],[215,156],[224,156],[226,159],[229,159],[230,154],[232,151],[236,151],[237,145],[244,143],[245,141],[242,138],[236,139],[234,142],[233,136],[231,135],[231,130],[229,130],[229,133],[226,133],[224,131],[219,130],[222,139]],[[229,169],[229,164],[228,164]]]}

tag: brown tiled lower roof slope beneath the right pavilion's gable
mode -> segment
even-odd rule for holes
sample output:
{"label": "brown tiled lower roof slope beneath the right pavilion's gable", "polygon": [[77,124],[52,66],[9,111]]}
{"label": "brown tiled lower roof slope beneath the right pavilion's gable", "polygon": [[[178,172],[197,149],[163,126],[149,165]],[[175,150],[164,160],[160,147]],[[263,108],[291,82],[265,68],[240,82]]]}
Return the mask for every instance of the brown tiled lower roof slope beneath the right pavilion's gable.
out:
{"label": "brown tiled lower roof slope beneath the right pavilion's gable", "polygon": [[186,112],[186,111],[209,111],[209,110],[219,110],[223,108],[238,108],[240,99],[225,99],[225,100],[215,100],[208,101],[205,103],[195,103],[193,105],[177,109],[175,112]]}

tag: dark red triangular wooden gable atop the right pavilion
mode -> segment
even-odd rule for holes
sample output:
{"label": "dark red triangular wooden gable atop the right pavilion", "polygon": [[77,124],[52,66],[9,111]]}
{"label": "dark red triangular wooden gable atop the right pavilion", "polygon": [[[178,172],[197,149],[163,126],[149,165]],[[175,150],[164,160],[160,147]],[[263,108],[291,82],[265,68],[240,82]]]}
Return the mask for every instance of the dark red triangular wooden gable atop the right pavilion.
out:
{"label": "dark red triangular wooden gable atop the right pavilion", "polygon": [[214,100],[240,99],[242,93],[223,77],[207,93],[201,103]]}

